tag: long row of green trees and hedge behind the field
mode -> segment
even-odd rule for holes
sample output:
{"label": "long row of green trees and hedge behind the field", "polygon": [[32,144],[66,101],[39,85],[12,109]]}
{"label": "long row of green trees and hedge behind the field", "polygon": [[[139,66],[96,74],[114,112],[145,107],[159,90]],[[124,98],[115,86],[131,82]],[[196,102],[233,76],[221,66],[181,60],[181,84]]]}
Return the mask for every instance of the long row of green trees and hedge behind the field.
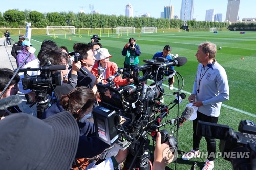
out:
{"label": "long row of green trees and hedge behind the field", "polygon": [[[7,10],[0,13],[0,27],[19,28],[26,27],[26,22],[31,22],[31,27],[46,28],[46,26],[75,26],[76,28],[116,28],[118,26],[135,28],[157,27],[159,29],[178,29],[184,24],[180,19],[163,19],[151,17],[126,17],[103,14],[85,14],[74,12],[48,12]],[[187,21],[189,29],[209,29],[212,27],[232,27],[228,22]],[[247,25],[245,27],[248,27]],[[250,26],[249,26],[250,27]],[[253,26],[255,27],[255,25]],[[240,27],[241,28],[241,27]]]}

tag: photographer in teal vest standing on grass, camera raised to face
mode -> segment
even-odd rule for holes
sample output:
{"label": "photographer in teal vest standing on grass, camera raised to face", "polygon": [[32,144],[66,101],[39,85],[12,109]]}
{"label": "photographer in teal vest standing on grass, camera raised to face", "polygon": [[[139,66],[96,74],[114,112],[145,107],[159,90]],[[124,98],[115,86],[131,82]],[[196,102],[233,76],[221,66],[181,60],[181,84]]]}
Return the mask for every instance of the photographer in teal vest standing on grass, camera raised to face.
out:
{"label": "photographer in teal vest standing on grass, camera raised to face", "polygon": [[131,69],[133,71],[139,65],[140,47],[136,44],[134,38],[129,38],[128,43],[125,44],[122,50],[122,55],[125,56],[124,68]]}

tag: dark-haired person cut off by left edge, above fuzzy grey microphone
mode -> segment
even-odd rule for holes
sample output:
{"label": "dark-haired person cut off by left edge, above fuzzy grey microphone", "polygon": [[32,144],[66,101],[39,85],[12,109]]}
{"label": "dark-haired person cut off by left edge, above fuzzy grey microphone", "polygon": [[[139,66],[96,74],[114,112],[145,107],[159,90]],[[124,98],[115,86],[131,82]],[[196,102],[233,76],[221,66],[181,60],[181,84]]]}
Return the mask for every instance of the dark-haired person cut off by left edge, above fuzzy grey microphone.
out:
{"label": "dark-haired person cut off by left edge, above fuzzy grey microphone", "polygon": [[[8,84],[12,76],[14,75],[14,71],[10,70],[9,68],[0,68],[0,92],[5,89],[5,86]],[[16,95],[18,92],[18,82],[20,80],[19,75],[16,75],[14,79],[11,81],[9,87],[5,91],[5,93],[2,95],[1,99],[7,98],[11,95]],[[8,111],[11,113],[19,113],[22,112],[18,106],[11,106],[7,108]],[[0,117],[9,115],[8,112],[5,110],[0,110]]]}

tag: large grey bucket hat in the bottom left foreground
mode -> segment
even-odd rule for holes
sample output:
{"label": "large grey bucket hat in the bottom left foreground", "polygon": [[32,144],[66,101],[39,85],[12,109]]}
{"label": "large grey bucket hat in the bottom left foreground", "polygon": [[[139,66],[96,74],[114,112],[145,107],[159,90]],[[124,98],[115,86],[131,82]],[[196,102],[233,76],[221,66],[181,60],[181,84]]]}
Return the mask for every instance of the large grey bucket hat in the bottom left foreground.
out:
{"label": "large grey bucket hat in the bottom left foreground", "polygon": [[1,169],[70,169],[79,127],[67,111],[40,120],[26,113],[0,120]]}

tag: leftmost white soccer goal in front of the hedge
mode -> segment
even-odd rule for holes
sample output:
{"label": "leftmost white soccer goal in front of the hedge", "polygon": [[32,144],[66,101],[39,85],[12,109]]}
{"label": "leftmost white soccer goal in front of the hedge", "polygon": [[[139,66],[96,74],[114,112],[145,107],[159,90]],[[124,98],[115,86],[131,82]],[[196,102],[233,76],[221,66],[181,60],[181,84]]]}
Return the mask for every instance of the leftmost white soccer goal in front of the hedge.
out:
{"label": "leftmost white soccer goal in front of the hedge", "polygon": [[75,26],[47,26],[46,35],[75,34]]}

